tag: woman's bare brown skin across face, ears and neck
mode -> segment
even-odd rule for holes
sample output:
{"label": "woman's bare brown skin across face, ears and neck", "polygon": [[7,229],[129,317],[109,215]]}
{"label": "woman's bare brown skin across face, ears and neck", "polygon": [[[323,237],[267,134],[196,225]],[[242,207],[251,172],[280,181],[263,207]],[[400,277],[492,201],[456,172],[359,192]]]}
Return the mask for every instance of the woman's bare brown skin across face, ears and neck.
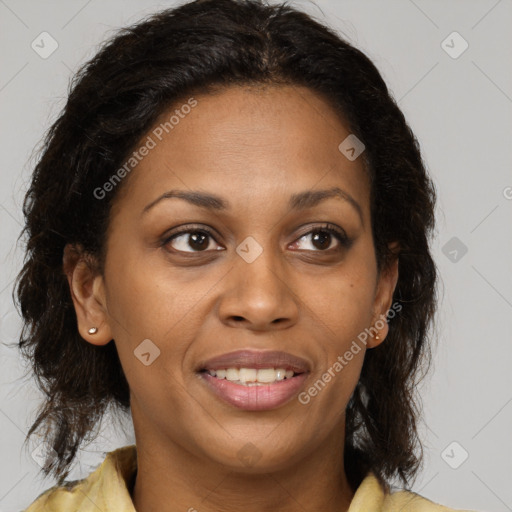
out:
{"label": "woman's bare brown skin across face, ears and neck", "polygon": [[[115,340],[130,385],[134,505],[346,511],[355,489],[342,464],[345,409],[364,353],[384,341],[387,324],[307,405],[294,398],[274,410],[242,411],[216,398],[195,370],[233,350],[283,350],[310,363],[307,389],[386,314],[398,265],[377,272],[362,157],[340,153],[347,124],[309,89],[231,87],[195,98],[198,105],[125,178],[103,274],[66,251],[80,334],[95,345]],[[288,208],[292,194],[331,187],[350,194],[362,218],[340,198]],[[230,209],[174,198],[142,213],[172,189],[218,195]],[[334,236],[314,242],[326,222],[346,232],[350,247]],[[214,231],[206,250],[187,243],[187,234],[162,243],[184,224]],[[263,249],[252,263],[235,251],[248,236]],[[134,356],[145,339],[160,349],[149,366]],[[259,459],[247,466],[238,452],[248,442]]]}

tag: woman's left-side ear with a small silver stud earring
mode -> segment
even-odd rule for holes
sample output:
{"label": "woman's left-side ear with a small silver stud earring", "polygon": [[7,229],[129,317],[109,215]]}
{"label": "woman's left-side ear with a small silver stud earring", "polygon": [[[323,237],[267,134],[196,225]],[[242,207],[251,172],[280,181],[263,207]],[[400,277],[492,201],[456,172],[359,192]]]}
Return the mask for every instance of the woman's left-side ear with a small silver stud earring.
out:
{"label": "woman's left-side ear with a small silver stud earring", "polygon": [[[63,269],[75,306],[78,331],[93,345],[106,345],[112,339],[108,324],[105,286],[93,259],[82,248],[67,244],[64,247]],[[95,333],[89,329],[96,328]]]}

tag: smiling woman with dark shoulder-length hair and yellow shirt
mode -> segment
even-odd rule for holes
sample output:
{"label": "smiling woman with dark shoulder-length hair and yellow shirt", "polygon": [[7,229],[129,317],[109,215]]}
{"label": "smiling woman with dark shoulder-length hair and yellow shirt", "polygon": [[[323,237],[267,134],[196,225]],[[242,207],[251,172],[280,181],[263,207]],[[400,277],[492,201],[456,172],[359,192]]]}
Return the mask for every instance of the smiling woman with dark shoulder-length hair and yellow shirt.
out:
{"label": "smiling woman with dark shoulder-length hair and yellow shirt", "polygon": [[[20,346],[58,479],[27,509],[451,510],[408,491],[434,187],[374,65],[200,0],[78,73],[24,206]],[[66,483],[114,405],[136,444]]]}

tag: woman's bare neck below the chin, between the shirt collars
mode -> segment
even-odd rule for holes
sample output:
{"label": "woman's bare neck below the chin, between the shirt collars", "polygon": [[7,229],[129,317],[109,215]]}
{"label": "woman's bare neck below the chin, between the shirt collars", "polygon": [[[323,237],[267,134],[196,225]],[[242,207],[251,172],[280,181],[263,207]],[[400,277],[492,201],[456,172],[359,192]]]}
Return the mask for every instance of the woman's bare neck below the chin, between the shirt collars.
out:
{"label": "woman's bare neck below the chin, between the shirt collars", "polygon": [[162,443],[142,436],[133,502],[139,512],[346,512],[354,491],[345,475],[343,442],[327,439],[291,467],[242,472],[198,458],[168,438]]}

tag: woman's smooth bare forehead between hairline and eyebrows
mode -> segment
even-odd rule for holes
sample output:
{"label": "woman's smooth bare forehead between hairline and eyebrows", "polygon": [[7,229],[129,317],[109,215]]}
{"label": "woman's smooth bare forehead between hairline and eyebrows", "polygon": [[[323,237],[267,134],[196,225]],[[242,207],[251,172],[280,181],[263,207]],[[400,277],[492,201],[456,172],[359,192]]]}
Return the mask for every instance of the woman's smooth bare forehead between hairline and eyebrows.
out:
{"label": "woman's smooth bare forehead between hairline and eyebrows", "polygon": [[195,95],[163,112],[142,138],[152,148],[129,176],[127,195],[144,208],[166,190],[200,189],[243,208],[337,186],[357,197],[367,216],[363,158],[352,161],[339,149],[350,135],[342,116],[305,87]]}

